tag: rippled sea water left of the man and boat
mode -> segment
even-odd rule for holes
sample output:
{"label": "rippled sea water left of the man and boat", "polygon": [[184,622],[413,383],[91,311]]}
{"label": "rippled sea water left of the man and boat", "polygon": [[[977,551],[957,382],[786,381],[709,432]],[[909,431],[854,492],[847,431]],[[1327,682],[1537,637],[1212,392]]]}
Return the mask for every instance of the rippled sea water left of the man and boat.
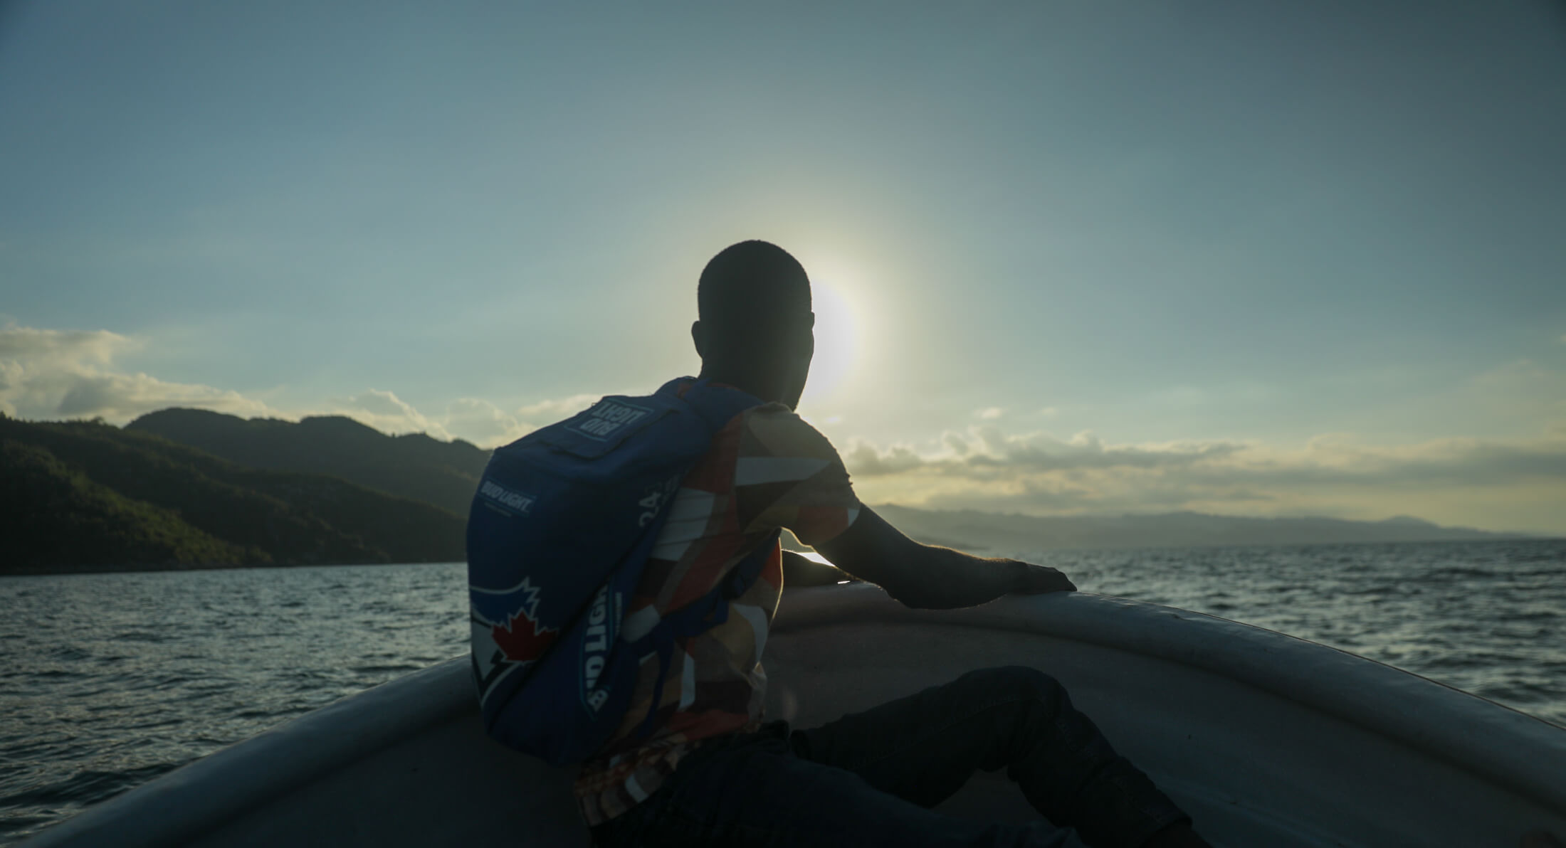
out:
{"label": "rippled sea water left of the man and boat", "polygon": [[460,565],[0,579],[0,845],[456,656]]}

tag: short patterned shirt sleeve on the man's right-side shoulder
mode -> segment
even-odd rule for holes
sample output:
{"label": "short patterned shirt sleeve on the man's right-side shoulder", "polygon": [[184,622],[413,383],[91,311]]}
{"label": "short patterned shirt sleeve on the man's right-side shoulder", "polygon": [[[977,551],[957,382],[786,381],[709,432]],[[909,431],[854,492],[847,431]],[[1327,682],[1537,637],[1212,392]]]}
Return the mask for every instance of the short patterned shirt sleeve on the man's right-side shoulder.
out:
{"label": "short patterned shirt sleeve on the man's right-side shoulder", "polygon": [[860,513],[849,471],[814,427],[781,404],[744,413],[734,458],[734,502],[745,534],[788,527],[824,544]]}

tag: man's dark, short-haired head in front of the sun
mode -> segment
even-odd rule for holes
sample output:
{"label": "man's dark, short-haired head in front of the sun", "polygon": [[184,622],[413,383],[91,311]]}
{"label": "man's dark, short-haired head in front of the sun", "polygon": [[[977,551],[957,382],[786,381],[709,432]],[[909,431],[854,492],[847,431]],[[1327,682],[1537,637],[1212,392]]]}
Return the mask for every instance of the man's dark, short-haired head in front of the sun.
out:
{"label": "man's dark, short-haired head in front of the sun", "polygon": [[799,404],[816,340],[810,277],[775,244],[741,241],[702,269],[691,325],[702,375],[763,401]]}

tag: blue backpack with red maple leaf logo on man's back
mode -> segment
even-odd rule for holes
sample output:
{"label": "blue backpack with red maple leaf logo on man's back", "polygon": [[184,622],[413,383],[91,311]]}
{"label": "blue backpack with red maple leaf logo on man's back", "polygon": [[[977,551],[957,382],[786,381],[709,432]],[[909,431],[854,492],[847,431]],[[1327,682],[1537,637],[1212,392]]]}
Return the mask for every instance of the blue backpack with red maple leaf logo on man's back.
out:
{"label": "blue backpack with red maple leaf logo on man's back", "polygon": [[722,624],[770,544],[717,588],[658,618],[625,618],[664,505],[713,437],[761,401],[697,380],[609,396],[495,451],[468,513],[473,679],[485,731],[553,765],[581,762],[620,726],[642,660],[659,657],[655,728],[675,641]]}

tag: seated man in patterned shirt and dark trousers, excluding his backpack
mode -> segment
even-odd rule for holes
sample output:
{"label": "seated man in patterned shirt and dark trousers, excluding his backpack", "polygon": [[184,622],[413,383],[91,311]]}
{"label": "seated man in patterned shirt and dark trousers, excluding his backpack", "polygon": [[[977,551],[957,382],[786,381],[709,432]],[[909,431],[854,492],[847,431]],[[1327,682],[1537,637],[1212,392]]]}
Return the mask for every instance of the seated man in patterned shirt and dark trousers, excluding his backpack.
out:
{"label": "seated man in patterned shirt and dark trousers, excluding his backpack", "polygon": [[[594,840],[630,845],[1206,845],[1190,818],[1117,756],[1065,690],[1032,668],[990,668],[821,728],[761,723],[761,649],[783,587],[788,527],[910,607],[1071,591],[1065,574],[919,544],[853,496],[832,444],[794,415],[814,352],[810,278],[783,249],[734,244],[697,288],[702,377],[764,401],[734,416],[684,477],[626,615],[680,609],[761,544],[761,577],[723,624],[684,640],[653,704],[648,668],[576,796]],[[653,663],[656,665],[656,663]],[[678,679],[678,684],[675,684]],[[656,729],[633,742],[642,717]],[[976,770],[1005,768],[1048,821],[999,825],[930,810]]]}

